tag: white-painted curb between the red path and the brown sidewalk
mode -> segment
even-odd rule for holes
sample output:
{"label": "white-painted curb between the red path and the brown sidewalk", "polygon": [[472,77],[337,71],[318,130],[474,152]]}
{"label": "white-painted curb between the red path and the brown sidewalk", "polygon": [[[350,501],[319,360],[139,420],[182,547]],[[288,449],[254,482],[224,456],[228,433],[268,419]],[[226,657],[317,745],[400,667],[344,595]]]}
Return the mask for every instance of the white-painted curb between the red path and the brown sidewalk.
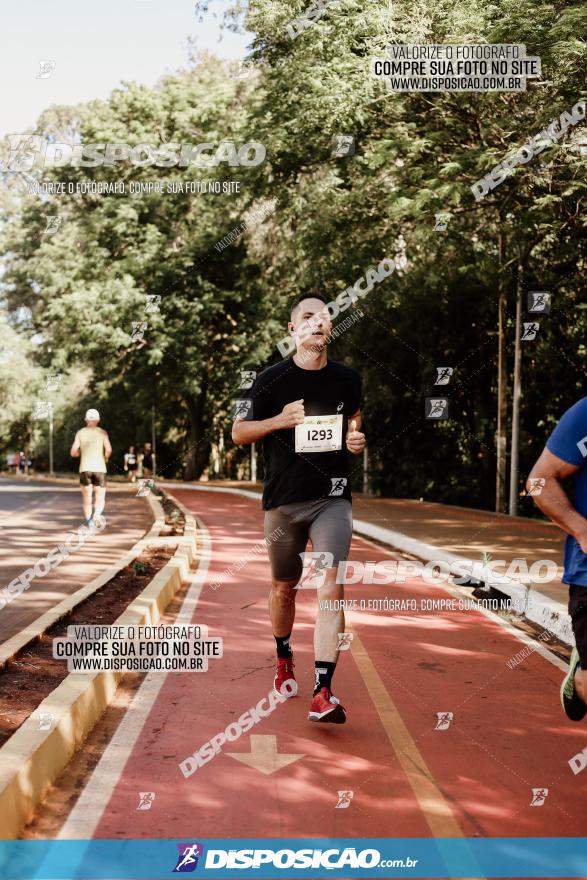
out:
{"label": "white-painted curb between the red path and the brown sidewalk", "polygon": [[[234,487],[228,488],[220,486],[214,487],[212,485],[193,486],[186,483],[166,483],[165,485],[191,491],[232,492],[236,495],[242,495],[245,498],[261,498],[259,492],[253,492],[249,489],[236,489]],[[353,531],[364,538],[370,538],[373,541],[378,541],[381,544],[400,550],[403,553],[409,553],[411,556],[416,556],[425,563],[442,560],[447,563],[450,571],[454,574],[459,574],[459,566],[473,564],[479,565],[478,559],[474,560],[467,556],[447,553],[445,550],[441,550],[433,544],[426,544],[424,541],[410,538],[402,532],[395,532],[392,529],[376,526],[365,520],[355,519],[353,521]],[[522,580],[515,580],[513,578],[498,577],[495,573],[487,569],[486,566],[482,566],[480,572],[482,576],[485,576],[485,583],[488,586],[493,586],[495,589],[510,597],[515,603],[517,614],[520,614],[530,622],[543,627],[561,642],[564,642],[564,644],[571,646],[575,644],[571,618],[567,612],[567,607],[563,602],[557,602],[549,596],[545,596],[544,593],[537,590],[531,583],[525,583]]]}

